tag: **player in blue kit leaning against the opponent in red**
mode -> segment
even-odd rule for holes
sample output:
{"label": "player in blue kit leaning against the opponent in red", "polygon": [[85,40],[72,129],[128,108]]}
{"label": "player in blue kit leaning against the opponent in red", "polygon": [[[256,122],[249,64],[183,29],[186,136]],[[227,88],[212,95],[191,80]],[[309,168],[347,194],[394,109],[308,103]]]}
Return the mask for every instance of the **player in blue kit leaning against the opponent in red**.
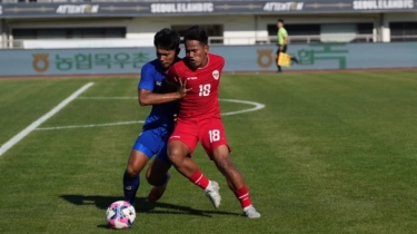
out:
{"label": "player in blue kit leaning against the opponent in red", "polygon": [[162,29],[155,35],[153,45],[158,58],[142,67],[138,86],[140,106],[152,105],[152,109],[131,149],[123,175],[125,201],[130,204],[135,204],[140,184],[139,174],[153,155],[156,158],[147,170],[147,181],[153,185],[148,201],[156,202],[162,196],[170,177],[168,170],[171,163],[167,156],[167,140],[173,130],[178,110],[176,100],[189,91],[186,84],[180,84],[176,91],[168,92],[165,84],[166,71],[179,60],[178,33],[171,29]]}

